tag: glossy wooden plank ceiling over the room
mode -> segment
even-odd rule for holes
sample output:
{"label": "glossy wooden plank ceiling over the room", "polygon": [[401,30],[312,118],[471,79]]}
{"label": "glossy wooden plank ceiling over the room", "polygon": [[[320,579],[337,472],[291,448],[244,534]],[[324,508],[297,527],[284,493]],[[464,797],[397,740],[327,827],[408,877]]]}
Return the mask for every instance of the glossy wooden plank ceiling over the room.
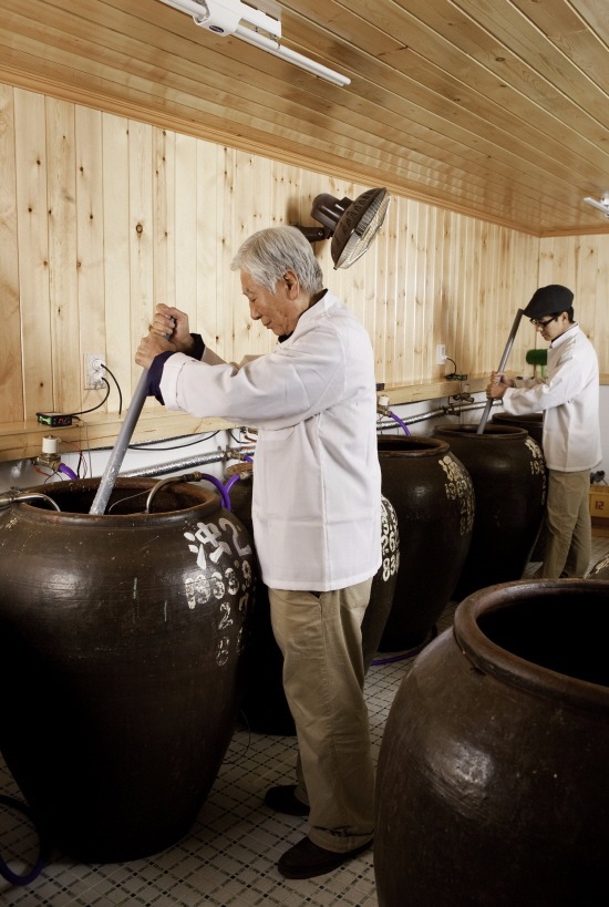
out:
{"label": "glossy wooden plank ceiling over the room", "polygon": [[582,200],[609,190],[607,0],[271,8],[351,84],[159,0],[0,0],[0,81],[534,235],[609,231]]}

